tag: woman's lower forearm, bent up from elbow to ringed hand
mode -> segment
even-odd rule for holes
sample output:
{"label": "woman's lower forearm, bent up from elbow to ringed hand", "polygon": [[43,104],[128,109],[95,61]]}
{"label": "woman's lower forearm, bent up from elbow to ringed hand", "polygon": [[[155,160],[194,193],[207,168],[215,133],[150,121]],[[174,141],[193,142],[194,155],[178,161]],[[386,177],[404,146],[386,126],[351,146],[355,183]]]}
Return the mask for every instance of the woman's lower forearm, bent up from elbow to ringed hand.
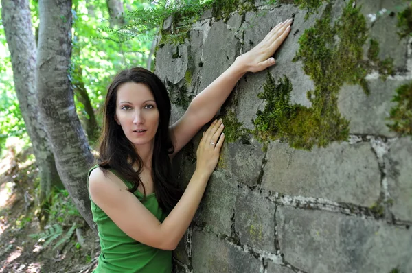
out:
{"label": "woman's lower forearm, bent up from elbow to ringed hand", "polygon": [[201,171],[195,171],[185,193],[161,224],[163,238],[165,238],[164,249],[173,250],[179,244],[198,209],[209,176]]}

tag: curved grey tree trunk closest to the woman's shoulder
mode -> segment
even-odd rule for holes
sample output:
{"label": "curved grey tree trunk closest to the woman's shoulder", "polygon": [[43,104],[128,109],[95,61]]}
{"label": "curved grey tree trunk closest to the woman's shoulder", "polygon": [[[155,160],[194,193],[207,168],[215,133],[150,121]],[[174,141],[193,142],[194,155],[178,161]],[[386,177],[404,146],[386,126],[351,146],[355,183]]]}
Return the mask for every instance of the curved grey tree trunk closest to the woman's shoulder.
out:
{"label": "curved grey tree trunk closest to the woman's shoulder", "polygon": [[76,114],[68,75],[71,0],[40,0],[38,12],[36,82],[41,117],[53,146],[60,178],[80,214],[95,230],[87,192],[87,171],[94,158]]}

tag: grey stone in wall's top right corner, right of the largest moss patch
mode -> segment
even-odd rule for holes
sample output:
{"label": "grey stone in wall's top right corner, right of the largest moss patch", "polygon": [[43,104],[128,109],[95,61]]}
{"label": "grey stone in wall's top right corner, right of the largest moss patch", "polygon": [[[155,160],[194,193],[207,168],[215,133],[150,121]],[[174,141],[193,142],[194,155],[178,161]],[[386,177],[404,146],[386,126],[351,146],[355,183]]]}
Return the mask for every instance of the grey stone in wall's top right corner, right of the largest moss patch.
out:
{"label": "grey stone in wall's top right corner, right of the largest moss patch", "polygon": [[[365,16],[367,26],[370,27],[369,38],[377,40],[380,51],[378,57],[381,60],[385,58],[393,58],[393,64],[396,69],[404,71],[407,68],[407,38],[400,40],[398,36],[398,19],[395,16],[389,16],[389,12],[380,15],[379,11],[386,9],[389,11],[398,11],[398,7],[404,7],[402,0],[382,0],[370,1],[361,0],[356,1],[356,5],[361,6],[361,12]],[[396,12],[397,13],[397,12]],[[369,14],[377,15],[376,21],[372,22]],[[365,53],[369,49],[369,40],[365,47]]]}

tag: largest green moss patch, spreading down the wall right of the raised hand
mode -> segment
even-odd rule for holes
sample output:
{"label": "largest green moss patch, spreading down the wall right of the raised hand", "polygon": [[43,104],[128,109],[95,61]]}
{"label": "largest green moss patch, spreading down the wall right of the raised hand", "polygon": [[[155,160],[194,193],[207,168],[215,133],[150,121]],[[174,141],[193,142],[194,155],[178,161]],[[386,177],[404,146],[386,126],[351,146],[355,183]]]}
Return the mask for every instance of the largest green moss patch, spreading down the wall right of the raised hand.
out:
{"label": "largest green moss patch, spreading down the wall right of the raised hand", "polygon": [[[332,141],[347,140],[349,121],[341,117],[337,107],[339,89],[343,84],[359,84],[369,93],[365,76],[379,65],[390,66],[378,60],[375,42],[371,42],[369,52],[374,60],[363,60],[367,27],[365,17],[352,3],[347,3],[333,24],[329,3],[321,19],[299,38],[300,48],[293,61],[301,60],[305,73],[314,82],[314,90],[308,92],[311,108],[291,105],[290,81],[285,77],[276,84],[268,75],[264,92],[258,95],[266,100],[266,106],[253,121],[254,134],[260,141],[281,139],[291,147],[310,150],[313,145],[326,147]],[[392,71],[385,67],[385,75],[387,70]]]}

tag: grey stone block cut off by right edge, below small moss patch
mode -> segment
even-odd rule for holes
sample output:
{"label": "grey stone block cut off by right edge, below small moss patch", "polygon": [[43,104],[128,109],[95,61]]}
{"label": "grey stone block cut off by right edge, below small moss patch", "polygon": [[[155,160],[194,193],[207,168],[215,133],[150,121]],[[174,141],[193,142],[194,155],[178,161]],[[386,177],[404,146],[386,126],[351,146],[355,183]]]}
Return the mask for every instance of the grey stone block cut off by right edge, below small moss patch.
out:
{"label": "grey stone block cut off by right edge, below small moss patch", "polygon": [[385,164],[389,195],[393,200],[392,211],[396,219],[412,221],[412,141],[396,140],[390,147]]}

